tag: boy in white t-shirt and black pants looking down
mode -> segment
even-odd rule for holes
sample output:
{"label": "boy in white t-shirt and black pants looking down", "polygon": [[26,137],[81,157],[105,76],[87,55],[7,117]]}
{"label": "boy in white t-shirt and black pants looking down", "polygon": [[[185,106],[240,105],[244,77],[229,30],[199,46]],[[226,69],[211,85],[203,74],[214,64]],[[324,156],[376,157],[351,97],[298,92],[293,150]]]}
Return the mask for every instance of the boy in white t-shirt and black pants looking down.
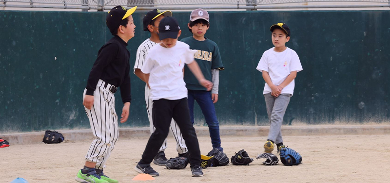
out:
{"label": "boy in white t-shirt and black pants looking down", "polygon": [[150,163],[167,137],[171,119],[174,118],[190,152],[192,176],[201,177],[203,172],[200,167],[199,143],[190,120],[187,88],[183,80],[184,64],[187,64],[207,90],[212,89],[213,83],[204,78],[199,66],[194,62],[196,50],[192,51],[190,46],[177,41],[181,30],[175,18],[161,19],[158,32],[161,43],[149,50],[141,68],[146,74],[145,82],[150,87],[150,98],[153,100],[152,118],[156,130],[151,134],[142,159],[134,169],[138,173],[159,175]]}

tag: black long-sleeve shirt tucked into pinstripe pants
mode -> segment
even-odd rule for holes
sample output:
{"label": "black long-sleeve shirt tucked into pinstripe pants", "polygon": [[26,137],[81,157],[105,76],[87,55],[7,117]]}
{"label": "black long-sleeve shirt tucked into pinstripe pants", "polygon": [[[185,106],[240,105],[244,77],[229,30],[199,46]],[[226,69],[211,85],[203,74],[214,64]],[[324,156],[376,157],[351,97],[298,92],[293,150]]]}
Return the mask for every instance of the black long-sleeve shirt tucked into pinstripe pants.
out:
{"label": "black long-sleeve shirt tucked into pinstripe pants", "polygon": [[87,95],[94,95],[99,79],[120,87],[122,102],[131,102],[130,52],[127,43],[115,35],[98,51],[98,58],[88,76]]}

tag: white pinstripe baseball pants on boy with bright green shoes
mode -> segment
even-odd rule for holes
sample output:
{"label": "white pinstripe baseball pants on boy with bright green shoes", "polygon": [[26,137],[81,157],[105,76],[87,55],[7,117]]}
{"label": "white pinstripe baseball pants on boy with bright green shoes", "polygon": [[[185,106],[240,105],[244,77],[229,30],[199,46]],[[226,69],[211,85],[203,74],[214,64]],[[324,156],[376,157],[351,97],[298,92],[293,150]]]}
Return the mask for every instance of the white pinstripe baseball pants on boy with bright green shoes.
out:
{"label": "white pinstripe baseball pants on boy with bright green shoes", "polygon": [[[111,84],[104,88],[105,82],[99,80],[94,92],[94,105],[91,110],[85,108],[95,140],[88,149],[85,160],[96,163],[97,169],[103,169],[118,140],[118,116],[115,112],[115,96],[108,91]],[[84,90],[83,100],[85,97]]]}

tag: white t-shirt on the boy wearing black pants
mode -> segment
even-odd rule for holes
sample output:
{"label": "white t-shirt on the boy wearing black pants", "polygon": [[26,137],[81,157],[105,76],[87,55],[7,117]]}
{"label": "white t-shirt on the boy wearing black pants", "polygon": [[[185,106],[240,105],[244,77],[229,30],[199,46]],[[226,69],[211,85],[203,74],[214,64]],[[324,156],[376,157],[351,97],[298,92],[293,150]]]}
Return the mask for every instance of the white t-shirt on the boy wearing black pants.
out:
{"label": "white t-shirt on the boy wearing black pants", "polygon": [[150,73],[152,100],[179,100],[187,97],[183,68],[184,64],[194,62],[195,51],[181,41],[177,41],[172,48],[164,48],[158,44],[149,50],[141,71]]}

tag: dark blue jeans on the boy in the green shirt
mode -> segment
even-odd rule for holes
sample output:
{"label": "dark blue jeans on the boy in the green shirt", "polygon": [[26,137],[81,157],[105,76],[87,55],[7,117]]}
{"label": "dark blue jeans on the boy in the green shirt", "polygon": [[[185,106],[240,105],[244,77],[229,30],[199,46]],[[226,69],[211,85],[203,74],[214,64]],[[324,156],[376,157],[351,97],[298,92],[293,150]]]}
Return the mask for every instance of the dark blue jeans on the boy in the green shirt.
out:
{"label": "dark blue jeans on the boy in the green shirt", "polygon": [[215,107],[211,99],[210,91],[203,90],[188,90],[188,107],[190,108],[190,119],[194,124],[194,101],[199,104],[203,116],[209,126],[211,144],[213,148],[223,150],[221,147],[221,138],[219,137],[219,122],[216,118]]}

